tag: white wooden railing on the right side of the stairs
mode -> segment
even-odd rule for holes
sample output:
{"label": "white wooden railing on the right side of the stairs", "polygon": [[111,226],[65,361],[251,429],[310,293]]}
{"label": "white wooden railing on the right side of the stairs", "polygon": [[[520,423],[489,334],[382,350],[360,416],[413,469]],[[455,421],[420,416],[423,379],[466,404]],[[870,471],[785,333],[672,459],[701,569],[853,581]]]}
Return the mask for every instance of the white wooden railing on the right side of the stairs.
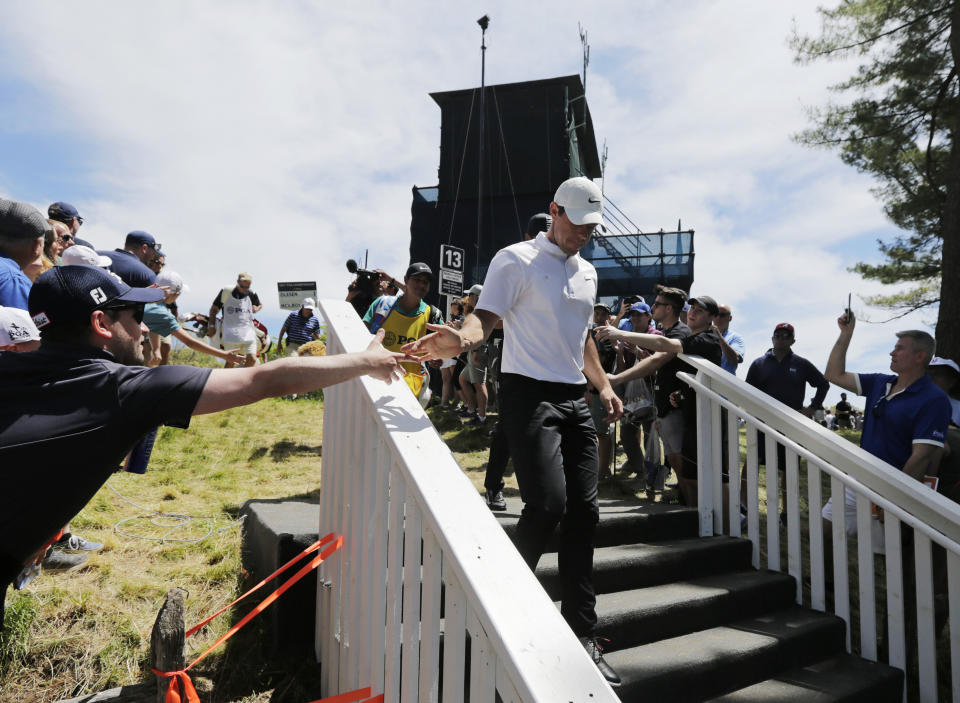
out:
{"label": "white wooden railing on the right side of the stairs", "polygon": [[[807,419],[765,393],[747,385],[699,357],[684,359],[696,369],[696,375],[679,374],[697,393],[698,496],[700,534],[726,532],[739,537],[740,506],[747,510],[746,537],[753,542],[753,565],[786,570],[797,584],[796,601],[801,605],[827,611],[832,596],[832,610],[847,623],[847,648],[876,661],[878,643],[885,641],[888,656],[882,657],[892,666],[905,669],[917,682],[922,701],[938,700],[938,659],[940,676],[949,679],[952,700],[960,702],[960,615],[951,618],[948,641],[941,640],[938,657],[937,633],[934,627],[934,591],[946,591],[949,611],[960,614],[960,505],[944,498],[890,465],[838,437],[825,427]],[[721,416],[727,432],[726,461],[721,460]],[[740,450],[738,418],[746,427],[745,457]],[[758,438],[766,436],[765,471],[766,500],[760,499]],[[786,447],[786,527],[780,525],[777,450],[774,442]],[[745,459],[745,461],[744,461]],[[800,462],[806,462],[806,504],[801,507]],[[731,467],[726,503],[721,468]],[[745,466],[746,496],[741,496],[740,473]],[[832,564],[824,563],[824,534],[820,510],[826,496],[822,485],[829,478],[833,499]],[[844,488],[853,491],[857,500],[856,557],[848,553],[848,535],[844,525]],[[874,516],[872,504],[883,509],[884,520]],[[766,511],[761,525],[761,506]],[[729,519],[729,516],[733,519]],[[726,517],[726,519],[724,519]],[[876,523],[876,524],[875,524]],[[901,525],[913,541],[916,586],[905,591],[903,579],[903,544]],[[765,533],[761,536],[761,527]],[[786,545],[781,544],[781,531]],[[875,544],[882,544],[882,556],[875,556]],[[866,539],[859,539],[866,535]],[[765,540],[766,563],[761,564],[761,547]],[[879,538],[879,539],[878,539]],[[934,551],[938,545],[946,553],[946,578],[934,582]],[[907,551],[909,554],[909,551]],[[941,553],[942,554],[942,553]],[[832,566],[832,587],[826,577]],[[907,572],[911,565],[908,563]],[[848,571],[849,569],[849,571]],[[857,576],[858,589],[854,612],[859,614],[856,642],[852,638],[851,593],[849,573]],[[885,582],[877,582],[877,573],[886,574]],[[808,588],[804,588],[808,584]],[[883,588],[885,586],[885,588]],[[909,586],[909,584],[907,584]],[[915,612],[904,613],[904,604],[913,601]],[[877,609],[886,613],[886,636],[883,621],[878,632]],[[913,609],[911,608],[911,611]],[[911,636],[908,637],[908,633]],[[908,681],[911,680],[908,678]],[[945,681],[941,680],[940,690]]]}

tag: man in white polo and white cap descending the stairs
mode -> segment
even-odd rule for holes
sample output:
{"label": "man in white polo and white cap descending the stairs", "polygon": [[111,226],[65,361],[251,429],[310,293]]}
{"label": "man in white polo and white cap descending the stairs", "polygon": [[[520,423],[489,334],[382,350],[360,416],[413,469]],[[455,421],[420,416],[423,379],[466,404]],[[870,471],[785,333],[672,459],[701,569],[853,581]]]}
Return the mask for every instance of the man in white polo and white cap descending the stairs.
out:
{"label": "man in white polo and white cap descending the stairs", "polygon": [[560,525],[561,613],[604,678],[620,677],[597,647],[593,535],[597,507],[597,437],[584,401],[587,379],[598,389],[608,422],[623,413],[587,334],[597,272],[578,252],[601,223],[603,197],[587,178],[571,178],[550,203],[553,223],[536,239],[497,252],[476,310],[459,330],[428,325],[434,334],[403,351],[427,359],[479,346],[503,320],[501,422],[523,498],[517,547],[533,569]]}

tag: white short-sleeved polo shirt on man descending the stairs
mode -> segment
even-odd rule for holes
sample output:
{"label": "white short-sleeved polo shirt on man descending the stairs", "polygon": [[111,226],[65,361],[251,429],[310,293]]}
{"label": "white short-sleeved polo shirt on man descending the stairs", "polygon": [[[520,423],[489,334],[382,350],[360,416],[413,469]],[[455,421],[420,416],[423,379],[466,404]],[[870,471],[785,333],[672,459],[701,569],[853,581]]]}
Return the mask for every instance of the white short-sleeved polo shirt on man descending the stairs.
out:
{"label": "white short-sleeved polo shirt on man descending the stairs", "polygon": [[597,271],[567,256],[544,233],[501,249],[477,308],[503,319],[504,373],[585,383],[583,345],[597,296]]}

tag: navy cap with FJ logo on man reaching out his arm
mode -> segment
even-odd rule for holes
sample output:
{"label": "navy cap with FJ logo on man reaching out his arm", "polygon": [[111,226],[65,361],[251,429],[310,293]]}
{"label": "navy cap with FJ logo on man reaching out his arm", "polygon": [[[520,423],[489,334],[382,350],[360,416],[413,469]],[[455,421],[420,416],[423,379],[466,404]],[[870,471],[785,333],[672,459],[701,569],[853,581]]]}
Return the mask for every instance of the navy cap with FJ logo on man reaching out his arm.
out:
{"label": "navy cap with FJ logo on man reaching out his arm", "polygon": [[112,303],[157,303],[159,288],[131,288],[118,276],[96,266],[55,266],[30,288],[29,308],[38,329],[90,317]]}

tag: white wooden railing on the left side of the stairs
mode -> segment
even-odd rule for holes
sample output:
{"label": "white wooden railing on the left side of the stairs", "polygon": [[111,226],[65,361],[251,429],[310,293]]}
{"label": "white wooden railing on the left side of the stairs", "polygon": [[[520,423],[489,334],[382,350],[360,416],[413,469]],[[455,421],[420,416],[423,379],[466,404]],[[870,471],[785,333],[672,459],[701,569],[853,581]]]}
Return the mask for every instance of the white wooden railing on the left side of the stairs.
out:
{"label": "white wooden railing on the left side of the stairs", "polygon": [[[329,354],[367,347],[348,303],[320,308]],[[402,382],[325,391],[329,532],[344,546],[318,579],[325,696],[370,686],[387,703],[618,700]]]}

